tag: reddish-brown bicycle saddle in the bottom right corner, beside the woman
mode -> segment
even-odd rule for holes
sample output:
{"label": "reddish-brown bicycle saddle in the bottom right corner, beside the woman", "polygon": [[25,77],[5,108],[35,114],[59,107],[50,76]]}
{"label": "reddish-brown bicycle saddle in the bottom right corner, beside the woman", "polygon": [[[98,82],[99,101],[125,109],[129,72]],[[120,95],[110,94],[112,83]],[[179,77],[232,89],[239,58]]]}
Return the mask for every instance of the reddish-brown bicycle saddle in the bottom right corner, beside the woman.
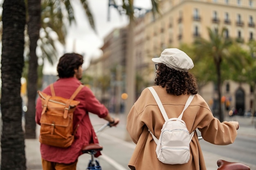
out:
{"label": "reddish-brown bicycle saddle in the bottom right corner, beside the woman", "polygon": [[217,165],[219,167],[217,170],[250,170],[249,166],[238,162],[218,160]]}

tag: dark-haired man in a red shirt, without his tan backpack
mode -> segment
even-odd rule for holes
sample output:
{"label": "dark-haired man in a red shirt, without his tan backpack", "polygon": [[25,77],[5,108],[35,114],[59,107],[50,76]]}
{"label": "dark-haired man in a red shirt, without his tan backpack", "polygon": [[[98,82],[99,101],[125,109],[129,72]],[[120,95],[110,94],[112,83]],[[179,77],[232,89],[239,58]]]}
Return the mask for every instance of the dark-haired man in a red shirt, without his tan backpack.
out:
{"label": "dark-haired man in a red shirt, without his tan backpack", "polygon": [[[67,53],[60,58],[57,66],[59,79],[53,84],[56,96],[70,98],[81,84],[79,80],[82,79],[82,64],[83,56],[76,53]],[[50,87],[47,86],[43,92],[51,95]],[[109,121],[110,126],[115,126],[119,122],[119,119],[110,116],[108,109],[96,99],[92,91],[86,86],[81,89],[74,100],[80,101],[74,111],[73,129],[79,124],[74,142],[68,148],[40,144],[43,170],[76,170],[76,163],[78,157],[82,154],[83,146],[90,143],[99,143],[89,118],[89,112]],[[42,104],[38,98],[36,123],[39,125],[41,113]],[[95,156],[99,155],[101,155],[100,152]]]}

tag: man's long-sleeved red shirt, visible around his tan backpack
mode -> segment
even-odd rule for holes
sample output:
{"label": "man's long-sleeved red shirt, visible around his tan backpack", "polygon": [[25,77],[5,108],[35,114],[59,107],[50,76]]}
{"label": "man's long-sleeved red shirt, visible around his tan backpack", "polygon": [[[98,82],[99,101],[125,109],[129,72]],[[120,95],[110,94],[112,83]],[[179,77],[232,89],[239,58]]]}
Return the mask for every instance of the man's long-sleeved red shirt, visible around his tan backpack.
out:
{"label": "man's long-sleeved red shirt, visible around his tan backpack", "polygon": [[[56,96],[70,98],[81,82],[74,78],[61,78],[54,82],[54,91]],[[50,87],[47,86],[44,93],[51,95]],[[75,140],[68,148],[59,148],[40,144],[40,152],[43,159],[58,163],[72,163],[82,154],[83,146],[90,143],[98,143],[97,136],[92,127],[88,113],[94,113],[100,118],[108,115],[108,109],[101,104],[92,91],[88,87],[83,87],[74,100],[80,101],[80,104],[74,111],[73,128],[79,124],[76,130]],[[42,113],[41,100],[38,98],[36,102],[36,123],[40,125],[40,117]],[[98,152],[96,156],[99,156]]]}

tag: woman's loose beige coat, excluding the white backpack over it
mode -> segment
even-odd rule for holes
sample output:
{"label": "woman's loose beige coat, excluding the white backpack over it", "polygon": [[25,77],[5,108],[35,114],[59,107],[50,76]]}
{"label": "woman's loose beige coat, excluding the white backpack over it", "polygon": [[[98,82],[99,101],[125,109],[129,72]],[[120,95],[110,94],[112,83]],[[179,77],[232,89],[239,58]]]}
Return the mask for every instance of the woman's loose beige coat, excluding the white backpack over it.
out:
{"label": "woman's loose beige coat, excluding the white backpack over it", "polygon": [[[182,112],[188,95],[170,95],[161,86],[153,86],[166,110],[169,118],[178,117]],[[227,145],[234,142],[237,131],[232,123],[220,121],[213,117],[211,110],[200,95],[195,95],[189,107],[184,111],[185,121],[190,133],[200,130],[205,141],[211,144]],[[164,118],[155,102],[153,95],[146,88],[132,106],[127,117],[127,130],[136,144],[133,155],[128,163],[131,170],[206,170],[197,133],[190,143],[190,160],[188,163],[169,165],[157,159],[156,144],[148,128],[159,139]],[[216,167],[217,169],[217,167]]]}

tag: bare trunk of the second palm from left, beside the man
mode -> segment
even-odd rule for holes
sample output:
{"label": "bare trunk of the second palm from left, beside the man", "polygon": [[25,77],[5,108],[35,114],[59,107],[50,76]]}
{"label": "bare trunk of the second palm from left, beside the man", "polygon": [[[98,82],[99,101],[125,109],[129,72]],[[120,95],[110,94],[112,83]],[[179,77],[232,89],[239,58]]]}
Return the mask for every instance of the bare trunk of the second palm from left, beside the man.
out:
{"label": "bare trunk of the second palm from left, beside the man", "polygon": [[41,1],[40,0],[28,0],[28,34],[29,34],[29,73],[28,73],[28,109],[25,115],[26,124],[25,124],[25,137],[27,139],[36,138],[36,122],[35,122],[35,113],[36,113],[36,91],[37,91],[37,55],[36,47],[37,40],[39,38],[39,31],[41,28]]}

